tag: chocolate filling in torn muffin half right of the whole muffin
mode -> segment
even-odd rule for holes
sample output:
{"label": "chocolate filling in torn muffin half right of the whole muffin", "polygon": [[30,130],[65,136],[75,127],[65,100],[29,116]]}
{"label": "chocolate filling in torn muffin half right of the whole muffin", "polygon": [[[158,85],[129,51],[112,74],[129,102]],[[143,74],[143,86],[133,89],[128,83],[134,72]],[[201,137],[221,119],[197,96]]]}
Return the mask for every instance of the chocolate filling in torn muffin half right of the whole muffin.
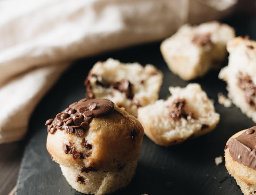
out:
{"label": "chocolate filling in torn muffin half right of the whole muffin", "polygon": [[185,106],[186,100],[185,99],[176,99],[173,101],[172,105],[169,106],[171,112],[169,113],[170,117],[174,120],[178,120],[182,117],[187,119],[187,114],[183,111]]}

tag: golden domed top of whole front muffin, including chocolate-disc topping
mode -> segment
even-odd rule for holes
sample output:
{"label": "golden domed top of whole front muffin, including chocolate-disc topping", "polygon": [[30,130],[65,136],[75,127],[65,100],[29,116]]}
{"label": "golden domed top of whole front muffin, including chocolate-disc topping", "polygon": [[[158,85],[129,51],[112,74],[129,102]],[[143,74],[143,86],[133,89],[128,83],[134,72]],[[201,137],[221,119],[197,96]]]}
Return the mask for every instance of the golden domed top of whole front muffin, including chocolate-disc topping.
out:
{"label": "golden domed top of whole front muffin, including chocolate-disc topping", "polygon": [[52,159],[81,171],[123,168],[137,160],[144,135],[135,117],[106,99],[82,99],[45,125]]}

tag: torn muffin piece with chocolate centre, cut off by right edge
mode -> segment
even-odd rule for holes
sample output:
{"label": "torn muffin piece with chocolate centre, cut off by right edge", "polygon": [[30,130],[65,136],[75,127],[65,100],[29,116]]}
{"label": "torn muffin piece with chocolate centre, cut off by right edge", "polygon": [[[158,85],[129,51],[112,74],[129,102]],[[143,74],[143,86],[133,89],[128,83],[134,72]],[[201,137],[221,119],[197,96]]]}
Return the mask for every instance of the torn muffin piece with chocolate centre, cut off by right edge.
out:
{"label": "torn muffin piece with chocolate centre, cut off by right edge", "polygon": [[228,96],[256,122],[256,41],[236,37],[227,44],[229,63],[219,73],[226,81]]}

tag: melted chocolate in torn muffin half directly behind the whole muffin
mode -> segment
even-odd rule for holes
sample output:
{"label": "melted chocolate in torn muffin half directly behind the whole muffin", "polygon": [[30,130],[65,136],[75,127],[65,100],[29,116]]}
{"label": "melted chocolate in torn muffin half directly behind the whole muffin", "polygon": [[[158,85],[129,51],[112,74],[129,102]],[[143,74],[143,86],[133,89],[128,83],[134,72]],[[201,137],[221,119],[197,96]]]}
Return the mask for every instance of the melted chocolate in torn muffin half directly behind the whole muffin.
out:
{"label": "melted chocolate in torn muffin half directly behind the whole muffin", "polygon": [[86,85],[86,91],[87,91],[86,97],[88,99],[94,98],[94,94],[92,92],[92,87],[91,87],[91,83],[90,83],[90,79],[92,77],[96,78],[97,85],[100,85],[101,87],[104,87],[104,88],[113,88],[113,89],[119,90],[120,92],[125,93],[127,98],[133,99],[133,96],[134,96],[133,91],[132,91],[133,84],[131,84],[129,80],[122,79],[117,82],[108,83],[101,76],[91,74],[91,73],[89,73],[89,75],[87,76],[87,78],[84,82],[84,84]]}

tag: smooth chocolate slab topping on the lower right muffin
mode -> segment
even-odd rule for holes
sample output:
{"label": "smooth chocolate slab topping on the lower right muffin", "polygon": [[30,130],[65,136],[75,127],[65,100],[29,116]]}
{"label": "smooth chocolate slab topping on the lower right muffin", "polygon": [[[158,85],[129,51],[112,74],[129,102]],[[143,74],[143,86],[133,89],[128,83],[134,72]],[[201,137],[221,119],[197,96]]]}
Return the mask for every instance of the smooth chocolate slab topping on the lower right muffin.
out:
{"label": "smooth chocolate slab topping on the lower right muffin", "polygon": [[[236,138],[229,140],[229,154],[243,165],[256,170],[256,126],[251,127]],[[226,148],[226,147],[225,147]]]}

